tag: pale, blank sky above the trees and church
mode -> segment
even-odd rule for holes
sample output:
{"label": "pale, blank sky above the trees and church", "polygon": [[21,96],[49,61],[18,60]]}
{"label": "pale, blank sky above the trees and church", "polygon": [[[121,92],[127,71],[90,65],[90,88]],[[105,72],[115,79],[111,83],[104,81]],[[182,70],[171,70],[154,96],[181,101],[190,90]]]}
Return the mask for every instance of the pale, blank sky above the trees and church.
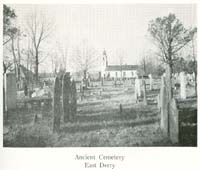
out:
{"label": "pale, blank sky above the trees and church", "polygon": [[[8,4],[9,5],[9,4]],[[22,5],[12,4],[17,15],[16,24],[25,28],[27,16],[33,10],[44,13],[54,22],[54,30],[43,44],[51,52],[56,42],[69,49],[86,41],[97,50],[99,62],[105,49],[109,64],[118,64],[119,51],[124,64],[139,64],[142,56],[154,49],[148,35],[148,23],[157,17],[176,14],[186,28],[196,26],[196,6],[192,4],[91,4],[91,5]],[[70,51],[70,50],[69,50]],[[70,53],[66,56],[70,61]],[[40,72],[48,70],[47,58]],[[72,65],[72,63],[68,62]],[[70,67],[70,66],[69,66]],[[98,67],[96,67],[98,68]]]}

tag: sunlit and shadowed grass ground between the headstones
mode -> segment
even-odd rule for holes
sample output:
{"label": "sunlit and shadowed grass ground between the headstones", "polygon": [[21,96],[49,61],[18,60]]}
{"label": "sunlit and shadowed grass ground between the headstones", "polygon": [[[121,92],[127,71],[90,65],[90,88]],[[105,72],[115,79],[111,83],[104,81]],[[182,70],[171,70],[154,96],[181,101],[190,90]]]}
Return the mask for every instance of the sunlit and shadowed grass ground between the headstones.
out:
{"label": "sunlit and shadowed grass ground between the headstones", "polygon": [[[78,93],[77,115],[68,123],[62,121],[59,133],[52,132],[51,106],[18,108],[4,114],[4,146],[172,146],[160,129],[158,93],[148,90],[145,106],[141,101],[136,103],[131,81],[117,87],[112,82],[103,87],[94,83],[82,100]],[[37,122],[36,113],[40,115]]]}

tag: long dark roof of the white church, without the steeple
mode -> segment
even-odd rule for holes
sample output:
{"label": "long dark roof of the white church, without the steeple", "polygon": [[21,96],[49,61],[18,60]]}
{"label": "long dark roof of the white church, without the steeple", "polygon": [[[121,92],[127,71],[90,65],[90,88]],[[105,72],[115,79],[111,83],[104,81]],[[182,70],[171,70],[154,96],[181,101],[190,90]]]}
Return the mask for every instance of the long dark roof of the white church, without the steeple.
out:
{"label": "long dark roof of the white church, without the steeple", "polygon": [[106,71],[128,71],[128,70],[137,70],[138,65],[108,65],[106,66]]}

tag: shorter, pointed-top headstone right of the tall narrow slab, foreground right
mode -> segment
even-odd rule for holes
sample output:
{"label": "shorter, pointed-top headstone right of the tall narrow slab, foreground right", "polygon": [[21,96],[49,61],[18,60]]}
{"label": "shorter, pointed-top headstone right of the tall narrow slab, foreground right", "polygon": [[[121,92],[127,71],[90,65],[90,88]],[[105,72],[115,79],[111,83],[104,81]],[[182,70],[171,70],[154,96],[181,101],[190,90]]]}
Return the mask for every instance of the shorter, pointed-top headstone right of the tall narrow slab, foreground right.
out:
{"label": "shorter, pointed-top headstone right of the tall narrow slab, foreground right", "polygon": [[172,143],[179,142],[178,109],[174,98],[171,100],[169,108],[169,136]]}

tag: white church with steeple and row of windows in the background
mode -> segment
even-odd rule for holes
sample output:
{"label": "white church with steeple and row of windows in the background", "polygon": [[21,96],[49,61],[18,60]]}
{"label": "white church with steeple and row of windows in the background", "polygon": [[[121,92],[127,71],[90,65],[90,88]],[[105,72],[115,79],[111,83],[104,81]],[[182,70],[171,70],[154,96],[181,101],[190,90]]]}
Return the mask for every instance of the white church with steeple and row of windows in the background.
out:
{"label": "white church with steeple and row of windows in the background", "polygon": [[108,65],[107,54],[103,52],[103,62],[101,68],[102,78],[130,79],[138,76],[138,65]]}

